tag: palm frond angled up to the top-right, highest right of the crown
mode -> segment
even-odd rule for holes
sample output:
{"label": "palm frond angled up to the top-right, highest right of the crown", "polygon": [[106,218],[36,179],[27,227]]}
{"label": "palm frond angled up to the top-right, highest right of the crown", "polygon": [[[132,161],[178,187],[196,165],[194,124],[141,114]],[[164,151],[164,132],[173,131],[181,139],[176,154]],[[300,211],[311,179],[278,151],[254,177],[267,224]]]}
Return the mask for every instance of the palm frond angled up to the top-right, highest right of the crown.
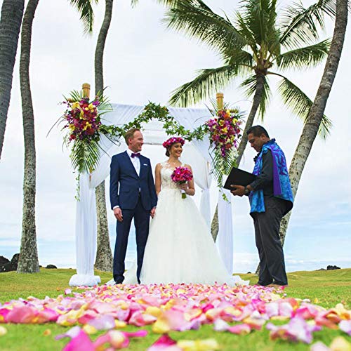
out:
{"label": "palm frond angled up to the top-right, highest right of the crown", "polygon": [[282,14],[281,44],[289,48],[311,44],[319,37],[318,27],[324,29],[324,15],[333,18],[335,13],[335,0],[319,0],[308,8],[300,3],[288,6]]}

